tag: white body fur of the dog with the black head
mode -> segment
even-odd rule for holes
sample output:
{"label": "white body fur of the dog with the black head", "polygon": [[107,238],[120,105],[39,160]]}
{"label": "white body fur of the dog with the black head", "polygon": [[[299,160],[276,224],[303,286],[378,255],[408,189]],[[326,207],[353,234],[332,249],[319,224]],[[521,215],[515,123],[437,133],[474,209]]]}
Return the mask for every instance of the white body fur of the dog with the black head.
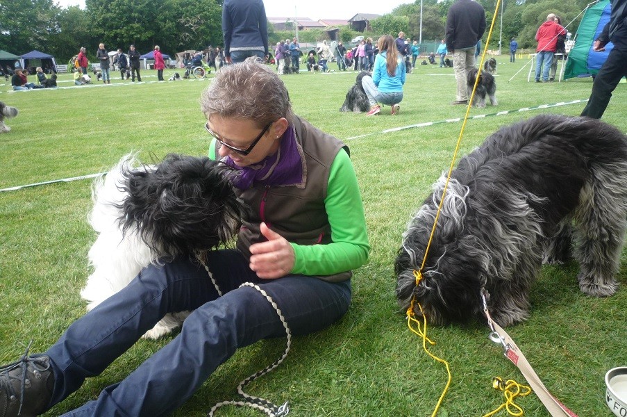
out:
{"label": "white body fur of the dog with the black head", "polygon": [[[157,254],[142,241],[137,229],[122,233],[118,208],[124,201],[124,176],[129,168],[151,169],[150,165],[136,167],[133,156],[124,156],[106,177],[94,182],[92,199],[94,208],[89,215],[89,223],[97,232],[98,238],[89,251],[90,265],[94,272],[87,278],[87,285],[81,297],[89,301],[87,310],[94,309],[111,295],[126,287],[142,268],[157,262]],[[158,338],[179,327],[189,316],[189,311],[167,314],[158,324],[144,334],[144,338]]]}

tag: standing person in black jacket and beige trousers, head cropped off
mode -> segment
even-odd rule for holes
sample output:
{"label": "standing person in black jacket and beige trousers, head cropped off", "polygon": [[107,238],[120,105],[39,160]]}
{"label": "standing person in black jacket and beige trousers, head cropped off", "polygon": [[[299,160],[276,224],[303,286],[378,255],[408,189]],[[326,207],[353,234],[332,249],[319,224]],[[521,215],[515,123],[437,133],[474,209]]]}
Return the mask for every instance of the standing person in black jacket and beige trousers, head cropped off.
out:
{"label": "standing person in black jacket and beige trousers, head cropped off", "polygon": [[485,10],[474,0],[455,0],[446,16],[446,49],[453,54],[457,99],[451,104],[468,104],[466,79],[475,67],[477,42],[485,32]]}

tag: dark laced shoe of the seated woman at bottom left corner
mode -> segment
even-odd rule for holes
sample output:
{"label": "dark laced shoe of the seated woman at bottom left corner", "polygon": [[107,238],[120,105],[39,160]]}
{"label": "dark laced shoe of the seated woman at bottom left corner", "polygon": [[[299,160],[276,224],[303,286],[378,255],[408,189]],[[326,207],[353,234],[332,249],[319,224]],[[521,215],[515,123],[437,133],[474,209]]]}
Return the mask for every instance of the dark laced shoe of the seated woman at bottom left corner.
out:
{"label": "dark laced shoe of the seated woman at bottom left corner", "polygon": [[29,357],[0,366],[0,417],[35,417],[52,398],[54,376],[47,356]]}

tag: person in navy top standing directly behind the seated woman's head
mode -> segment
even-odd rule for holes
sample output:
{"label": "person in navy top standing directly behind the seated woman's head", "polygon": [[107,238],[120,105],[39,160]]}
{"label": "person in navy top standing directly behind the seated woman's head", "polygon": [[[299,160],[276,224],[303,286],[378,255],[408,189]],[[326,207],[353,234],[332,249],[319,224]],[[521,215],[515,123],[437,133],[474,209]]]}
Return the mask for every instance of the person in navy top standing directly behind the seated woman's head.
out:
{"label": "person in navy top standing directly behind the seated woman's head", "polygon": [[249,56],[268,56],[268,19],[262,0],[225,0],[222,33],[226,63],[241,63]]}

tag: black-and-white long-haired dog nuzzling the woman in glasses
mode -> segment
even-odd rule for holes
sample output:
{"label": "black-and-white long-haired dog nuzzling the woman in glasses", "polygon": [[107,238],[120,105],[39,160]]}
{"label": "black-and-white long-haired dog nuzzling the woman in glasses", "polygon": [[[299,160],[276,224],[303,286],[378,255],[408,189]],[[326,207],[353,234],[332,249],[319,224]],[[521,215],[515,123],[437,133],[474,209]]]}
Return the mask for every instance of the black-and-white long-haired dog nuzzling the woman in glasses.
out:
{"label": "black-and-white long-haired dog nuzzling the woman in glasses", "polygon": [[[89,222],[98,238],[89,251],[94,272],[81,291],[87,309],[130,283],[150,263],[198,256],[237,233],[245,209],[233,193],[226,165],[169,154],[158,165],[125,156],[94,182]],[[144,337],[158,338],[189,312],[168,314]]]}

